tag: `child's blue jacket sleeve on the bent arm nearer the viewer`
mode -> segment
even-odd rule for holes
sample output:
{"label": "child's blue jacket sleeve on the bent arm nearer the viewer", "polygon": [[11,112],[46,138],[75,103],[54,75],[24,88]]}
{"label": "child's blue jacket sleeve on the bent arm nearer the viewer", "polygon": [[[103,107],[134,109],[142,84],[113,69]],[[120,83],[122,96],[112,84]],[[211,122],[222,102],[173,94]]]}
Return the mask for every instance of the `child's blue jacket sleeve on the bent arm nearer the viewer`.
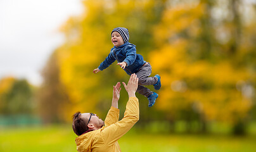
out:
{"label": "child's blue jacket sleeve on the bent arm nearer the viewer", "polygon": [[124,62],[127,63],[127,66],[132,65],[136,60],[136,47],[128,45],[125,48],[125,59]]}

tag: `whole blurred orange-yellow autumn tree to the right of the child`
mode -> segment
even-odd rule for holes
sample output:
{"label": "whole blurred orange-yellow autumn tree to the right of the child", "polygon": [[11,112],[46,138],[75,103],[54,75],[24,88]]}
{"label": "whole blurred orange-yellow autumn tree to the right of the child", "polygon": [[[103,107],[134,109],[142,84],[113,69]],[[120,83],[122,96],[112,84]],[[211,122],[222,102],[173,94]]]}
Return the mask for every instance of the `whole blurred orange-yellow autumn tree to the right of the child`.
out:
{"label": "whole blurred orange-yellow autumn tree to the right of the child", "polygon": [[[245,50],[240,46],[241,5],[234,3],[239,1],[180,1],[166,9],[156,27],[158,49],[151,53],[151,63],[163,79],[157,106],[169,113],[169,120],[185,119],[188,130],[191,119],[200,121],[202,130],[212,121],[236,128],[252,107],[252,95],[242,88],[251,87],[255,75],[236,58]],[[235,8],[227,9],[230,4]],[[227,16],[220,14],[225,11]],[[225,28],[230,26],[234,28]],[[226,35],[233,33],[235,37]]]}

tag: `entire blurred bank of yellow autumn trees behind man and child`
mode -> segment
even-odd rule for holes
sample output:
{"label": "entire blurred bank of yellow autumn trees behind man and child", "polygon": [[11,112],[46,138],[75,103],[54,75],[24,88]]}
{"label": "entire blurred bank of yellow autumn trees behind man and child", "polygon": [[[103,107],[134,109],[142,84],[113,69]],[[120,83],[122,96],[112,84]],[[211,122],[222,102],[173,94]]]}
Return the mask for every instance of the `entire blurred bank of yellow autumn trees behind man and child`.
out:
{"label": "entire blurred bank of yellow autumn trees behind man and child", "polygon": [[[96,0],[84,1],[84,8],[82,15],[61,27],[65,42],[56,50],[60,83],[71,102],[66,115],[92,111],[105,116],[111,86],[129,76],[115,63],[97,74],[93,69],[113,47],[112,29],[127,27],[130,42],[151,63],[153,74],[162,77],[153,108],[138,95],[139,123],[185,120],[188,130],[197,122],[198,130],[207,131],[211,122],[224,122],[235,132],[237,126],[245,126],[255,101],[255,8],[251,4]],[[121,94],[123,107],[127,96],[124,90]]]}

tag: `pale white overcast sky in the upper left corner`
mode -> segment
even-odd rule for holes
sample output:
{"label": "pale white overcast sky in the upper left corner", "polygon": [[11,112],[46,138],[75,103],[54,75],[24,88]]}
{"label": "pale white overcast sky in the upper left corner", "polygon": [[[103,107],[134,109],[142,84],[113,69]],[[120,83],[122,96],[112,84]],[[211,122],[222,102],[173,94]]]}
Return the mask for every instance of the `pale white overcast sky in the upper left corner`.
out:
{"label": "pale white overcast sky in the upper left corner", "polygon": [[0,80],[40,85],[42,68],[64,41],[58,29],[82,11],[82,0],[0,0]]}

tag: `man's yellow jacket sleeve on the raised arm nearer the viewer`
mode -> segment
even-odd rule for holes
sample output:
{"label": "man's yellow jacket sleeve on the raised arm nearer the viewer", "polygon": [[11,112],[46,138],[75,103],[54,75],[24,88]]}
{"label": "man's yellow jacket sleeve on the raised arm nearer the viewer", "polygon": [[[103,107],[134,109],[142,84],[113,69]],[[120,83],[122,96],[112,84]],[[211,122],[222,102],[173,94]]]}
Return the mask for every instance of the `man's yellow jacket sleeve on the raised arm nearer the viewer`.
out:
{"label": "man's yellow jacket sleeve on the raised arm nearer the viewer", "polygon": [[139,120],[139,100],[136,97],[129,98],[122,120],[106,127],[101,132],[105,144],[112,146],[120,137],[124,136]]}

